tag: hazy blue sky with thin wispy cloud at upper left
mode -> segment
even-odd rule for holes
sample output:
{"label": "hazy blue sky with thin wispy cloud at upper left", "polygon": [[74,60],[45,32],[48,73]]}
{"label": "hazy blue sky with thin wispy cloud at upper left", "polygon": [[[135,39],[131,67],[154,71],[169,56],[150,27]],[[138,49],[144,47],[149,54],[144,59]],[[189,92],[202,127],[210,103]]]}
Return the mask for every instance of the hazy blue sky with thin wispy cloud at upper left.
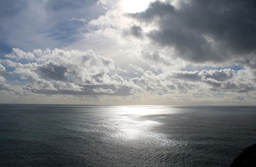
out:
{"label": "hazy blue sky with thin wispy cloud at upper left", "polygon": [[1,1],[0,9],[1,56],[14,47],[31,51],[68,46],[81,39],[88,22],[106,12],[94,0],[10,0]]}

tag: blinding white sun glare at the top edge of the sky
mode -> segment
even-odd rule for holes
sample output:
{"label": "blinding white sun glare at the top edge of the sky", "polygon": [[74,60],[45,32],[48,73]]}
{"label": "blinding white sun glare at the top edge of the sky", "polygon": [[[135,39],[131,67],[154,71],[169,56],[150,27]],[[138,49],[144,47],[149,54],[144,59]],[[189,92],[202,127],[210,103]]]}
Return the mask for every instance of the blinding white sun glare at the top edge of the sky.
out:
{"label": "blinding white sun glare at the top edge of the sky", "polygon": [[127,13],[138,13],[145,10],[150,0],[123,0],[122,9]]}

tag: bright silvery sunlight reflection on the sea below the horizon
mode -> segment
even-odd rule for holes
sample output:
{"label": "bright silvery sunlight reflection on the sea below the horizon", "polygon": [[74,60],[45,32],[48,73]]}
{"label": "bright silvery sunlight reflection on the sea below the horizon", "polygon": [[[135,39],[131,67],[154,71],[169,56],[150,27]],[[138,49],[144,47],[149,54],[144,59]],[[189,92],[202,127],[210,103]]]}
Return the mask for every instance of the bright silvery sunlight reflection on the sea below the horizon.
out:
{"label": "bright silvery sunlight reflection on the sea below the horizon", "polygon": [[[175,114],[178,111],[162,106],[124,106],[118,107],[115,118],[115,133],[113,137],[134,144],[158,144],[173,145],[166,134],[154,131],[154,128],[161,126],[162,122],[157,121],[155,117],[164,117],[165,114]],[[148,118],[153,116],[152,118]]]}

